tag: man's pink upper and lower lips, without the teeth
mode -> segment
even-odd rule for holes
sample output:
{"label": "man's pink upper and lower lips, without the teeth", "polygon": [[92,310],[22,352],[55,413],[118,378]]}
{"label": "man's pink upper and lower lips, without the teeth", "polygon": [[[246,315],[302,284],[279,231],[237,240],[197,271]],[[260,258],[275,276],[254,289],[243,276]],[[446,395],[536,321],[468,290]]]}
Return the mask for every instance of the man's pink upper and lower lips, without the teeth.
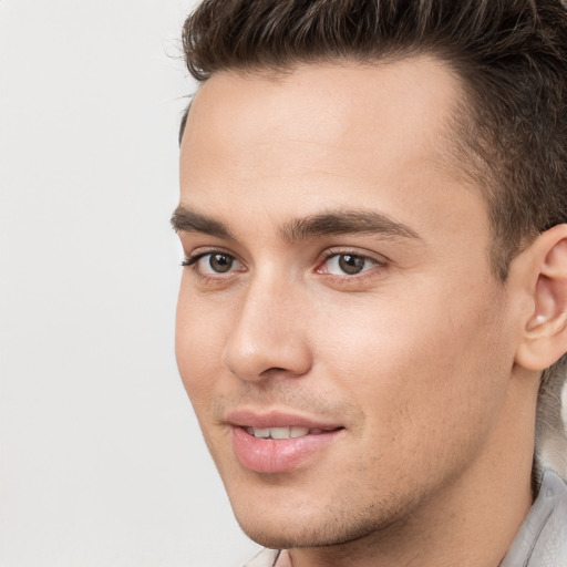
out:
{"label": "man's pink upper and lower lips, without the teeth", "polygon": [[[258,414],[237,411],[227,419],[231,427],[231,443],[236,458],[245,468],[255,473],[276,474],[293,471],[322,456],[326,449],[344,432],[339,424],[322,422],[302,415],[269,412]],[[284,440],[257,439],[247,427],[291,427],[322,430],[321,433]]]}

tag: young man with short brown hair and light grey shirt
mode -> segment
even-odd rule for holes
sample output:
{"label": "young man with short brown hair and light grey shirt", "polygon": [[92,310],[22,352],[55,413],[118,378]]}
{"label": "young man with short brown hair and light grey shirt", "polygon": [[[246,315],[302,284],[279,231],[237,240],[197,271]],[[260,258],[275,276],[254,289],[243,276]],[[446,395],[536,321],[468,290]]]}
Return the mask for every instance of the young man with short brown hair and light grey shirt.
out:
{"label": "young man with short brown hair and light grey shirt", "polygon": [[560,1],[207,0],[184,48],[176,354],[250,565],[567,566]]}

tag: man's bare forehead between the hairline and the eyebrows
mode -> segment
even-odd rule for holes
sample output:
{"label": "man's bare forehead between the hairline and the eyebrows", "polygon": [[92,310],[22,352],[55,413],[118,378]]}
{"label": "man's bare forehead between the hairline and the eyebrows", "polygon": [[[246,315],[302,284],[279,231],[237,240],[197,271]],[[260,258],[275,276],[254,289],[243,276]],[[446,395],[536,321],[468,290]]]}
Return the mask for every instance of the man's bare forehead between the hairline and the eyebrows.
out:
{"label": "man's bare forehead between the hairline and the eyebrows", "polygon": [[291,218],[355,200],[435,225],[437,202],[470,206],[446,158],[458,96],[454,74],[425,56],[217,73],[188,115],[182,204],[228,218],[238,198]]}

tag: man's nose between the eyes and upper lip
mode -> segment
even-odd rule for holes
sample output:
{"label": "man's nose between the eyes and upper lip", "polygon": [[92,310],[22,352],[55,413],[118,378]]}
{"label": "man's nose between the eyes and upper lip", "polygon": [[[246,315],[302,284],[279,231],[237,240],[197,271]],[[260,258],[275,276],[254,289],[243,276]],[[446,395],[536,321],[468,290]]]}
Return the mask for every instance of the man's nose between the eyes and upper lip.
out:
{"label": "man's nose between the eyes and upper lip", "polygon": [[310,310],[299,298],[285,281],[258,281],[248,288],[223,353],[235,377],[254,382],[309,372]]}

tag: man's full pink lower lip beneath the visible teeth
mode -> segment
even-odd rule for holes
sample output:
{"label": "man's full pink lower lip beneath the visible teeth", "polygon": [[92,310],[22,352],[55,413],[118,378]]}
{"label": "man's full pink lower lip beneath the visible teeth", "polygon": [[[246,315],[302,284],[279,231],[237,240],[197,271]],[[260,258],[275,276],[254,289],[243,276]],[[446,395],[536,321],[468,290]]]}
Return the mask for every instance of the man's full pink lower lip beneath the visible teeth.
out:
{"label": "man's full pink lower lip beneath the visible teeth", "polygon": [[256,473],[285,473],[332,443],[341,431],[274,440],[258,439],[243,427],[233,427],[233,447],[245,468]]}

